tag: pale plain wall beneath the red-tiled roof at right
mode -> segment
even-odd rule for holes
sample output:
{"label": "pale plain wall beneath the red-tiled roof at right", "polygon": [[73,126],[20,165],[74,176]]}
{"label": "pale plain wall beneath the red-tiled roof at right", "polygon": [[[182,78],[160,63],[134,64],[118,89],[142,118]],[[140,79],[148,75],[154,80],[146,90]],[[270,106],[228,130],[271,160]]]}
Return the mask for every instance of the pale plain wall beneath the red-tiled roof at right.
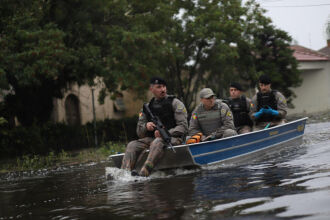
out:
{"label": "pale plain wall beneath the red-tiled roof at right", "polygon": [[330,110],[330,62],[300,62],[302,85],[294,88],[294,109],[288,114],[313,114]]}

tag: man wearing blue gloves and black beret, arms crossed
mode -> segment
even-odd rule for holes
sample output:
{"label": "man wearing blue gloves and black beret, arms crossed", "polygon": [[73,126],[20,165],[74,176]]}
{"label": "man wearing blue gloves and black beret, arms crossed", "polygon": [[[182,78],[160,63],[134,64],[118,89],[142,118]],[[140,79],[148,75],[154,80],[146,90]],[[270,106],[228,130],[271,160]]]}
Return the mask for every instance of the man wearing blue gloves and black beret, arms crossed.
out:
{"label": "man wearing blue gloves and black beret, arms crossed", "polygon": [[271,79],[267,75],[259,77],[259,92],[252,98],[250,117],[255,122],[254,131],[284,124],[287,113],[285,97],[271,89]]}

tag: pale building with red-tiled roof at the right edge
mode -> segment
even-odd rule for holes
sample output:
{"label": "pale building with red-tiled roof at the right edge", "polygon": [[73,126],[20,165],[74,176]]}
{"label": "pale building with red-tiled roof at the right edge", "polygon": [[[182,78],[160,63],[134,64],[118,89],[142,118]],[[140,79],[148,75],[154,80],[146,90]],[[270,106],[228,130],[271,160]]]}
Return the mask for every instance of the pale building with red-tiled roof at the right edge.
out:
{"label": "pale building with red-tiled roof at the right edge", "polygon": [[[328,45],[329,47],[329,45]],[[302,46],[293,45],[294,57],[299,62],[302,85],[292,90],[294,109],[288,114],[313,114],[330,110],[330,56]],[[323,51],[329,49],[321,49]]]}

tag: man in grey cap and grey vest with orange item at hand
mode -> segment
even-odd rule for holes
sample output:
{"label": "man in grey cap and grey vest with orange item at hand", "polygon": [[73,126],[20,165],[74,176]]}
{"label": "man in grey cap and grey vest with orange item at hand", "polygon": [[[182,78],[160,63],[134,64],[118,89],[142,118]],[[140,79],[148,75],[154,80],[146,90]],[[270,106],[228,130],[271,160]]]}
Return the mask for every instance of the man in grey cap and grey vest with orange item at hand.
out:
{"label": "man in grey cap and grey vest with orange item at hand", "polygon": [[220,99],[216,99],[210,88],[200,91],[200,101],[191,115],[187,144],[237,134],[230,108]]}

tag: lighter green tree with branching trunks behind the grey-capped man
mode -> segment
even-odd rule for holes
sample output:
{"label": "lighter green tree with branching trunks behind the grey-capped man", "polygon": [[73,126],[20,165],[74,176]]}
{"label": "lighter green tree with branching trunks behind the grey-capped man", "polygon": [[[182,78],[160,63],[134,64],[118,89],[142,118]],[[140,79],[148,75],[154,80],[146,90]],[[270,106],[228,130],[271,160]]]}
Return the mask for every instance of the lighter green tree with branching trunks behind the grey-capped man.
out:
{"label": "lighter green tree with branching trunks behind the grey-capped man", "polygon": [[181,14],[168,26],[166,65],[170,89],[184,101],[189,111],[198,91],[210,86],[218,93],[223,79],[236,66],[237,47],[244,13],[240,1],[187,1],[177,5]]}

